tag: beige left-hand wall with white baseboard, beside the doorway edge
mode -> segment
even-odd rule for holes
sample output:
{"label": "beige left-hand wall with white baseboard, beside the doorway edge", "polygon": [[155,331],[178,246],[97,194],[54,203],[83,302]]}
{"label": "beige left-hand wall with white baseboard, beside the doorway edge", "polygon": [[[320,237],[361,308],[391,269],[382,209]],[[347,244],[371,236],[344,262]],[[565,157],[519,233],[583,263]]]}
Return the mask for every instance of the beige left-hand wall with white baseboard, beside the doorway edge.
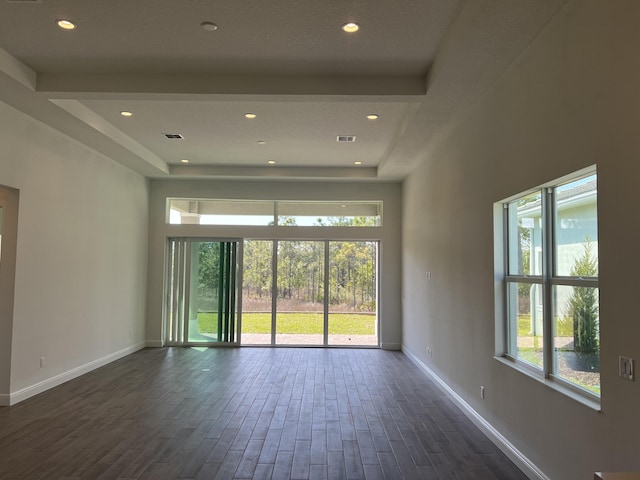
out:
{"label": "beige left-hand wall with white baseboard, beside the doorway edge", "polygon": [[0,104],[0,184],[20,191],[15,402],[143,345],[148,182]]}

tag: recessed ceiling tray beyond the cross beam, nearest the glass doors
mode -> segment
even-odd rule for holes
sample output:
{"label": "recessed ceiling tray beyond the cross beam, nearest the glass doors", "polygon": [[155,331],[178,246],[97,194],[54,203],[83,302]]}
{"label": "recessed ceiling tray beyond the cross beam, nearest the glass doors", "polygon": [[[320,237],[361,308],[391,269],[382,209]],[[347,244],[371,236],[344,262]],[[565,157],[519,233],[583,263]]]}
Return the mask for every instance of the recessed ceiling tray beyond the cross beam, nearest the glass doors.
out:
{"label": "recessed ceiling tray beyond the cross beam, nearest the glass doors", "polygon": [[[192,165],[236,166],[251,166],[256,159],[281,166],[351,167],[355,161],[369,165],[386,155],[399,134],[393,126],[410,115],[412,107],[398,102],[318,101],[82,103],[170,164],[186,158]],[[136,114],[124,118],[121,110]],[[258,116],[248,120],[247,112]],[[367,120],[370,113],[379,119]],[[179,133],[184,139],[162,138],[164,132]],[[356,142],[338,143],[339,134],[355,135]]]}

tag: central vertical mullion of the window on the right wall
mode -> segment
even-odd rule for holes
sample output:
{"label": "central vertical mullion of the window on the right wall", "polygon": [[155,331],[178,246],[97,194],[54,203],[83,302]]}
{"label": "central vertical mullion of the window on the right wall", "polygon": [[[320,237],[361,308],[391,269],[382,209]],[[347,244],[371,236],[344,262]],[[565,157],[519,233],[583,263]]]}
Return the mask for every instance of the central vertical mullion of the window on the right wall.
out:
{"label": "central vertical mullion of the window on the right wall", "polygon": [[544,340],[543,340],[543,366],[544,376],[549,378],[555,372],[553,355],[553,284],[551,279],[555,275],[555,193],[553,188],[545,188],[542,195],[543,237],[542,237],[542,283],[543,283],[543,313]]}

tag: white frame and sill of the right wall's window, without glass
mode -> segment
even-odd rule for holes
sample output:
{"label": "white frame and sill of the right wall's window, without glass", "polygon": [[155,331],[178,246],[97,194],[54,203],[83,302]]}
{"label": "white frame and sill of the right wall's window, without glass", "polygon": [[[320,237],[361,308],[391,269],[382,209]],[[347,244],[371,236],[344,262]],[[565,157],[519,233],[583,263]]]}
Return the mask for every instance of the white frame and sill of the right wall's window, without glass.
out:
{"label": "white frame and sill of the right wall's window, without glass", "polygon": [[[556,187],[581,178],[597,175],[595,166],[575,172],[549,182],[538,188],[519,193],[494,204],[494,263],[495,263],[495,311],[496,311],[496,355],[495,358],[522,373],[547,384],[555,390],[600,410],[600,395],[589,391],[555,373],[554,356],[554,288],[556,286],[599,288],[598,277],[572,277],[557,274],[556,245]],[[533,193],[541,193],[542,214],[542,272],[536,275],[509,273],[509,205]],[[596,197],[597,198],[597,197]],[[531,252],[534,255],[534,252]],[[537,366],[517,358],[517,332],[511,332],[509,318],[509,285],[528,283],[541,285],[543,308],[543,366]],[[516,327],[517,328],[517,327]]]}

